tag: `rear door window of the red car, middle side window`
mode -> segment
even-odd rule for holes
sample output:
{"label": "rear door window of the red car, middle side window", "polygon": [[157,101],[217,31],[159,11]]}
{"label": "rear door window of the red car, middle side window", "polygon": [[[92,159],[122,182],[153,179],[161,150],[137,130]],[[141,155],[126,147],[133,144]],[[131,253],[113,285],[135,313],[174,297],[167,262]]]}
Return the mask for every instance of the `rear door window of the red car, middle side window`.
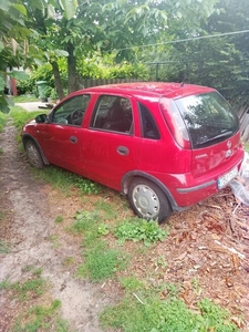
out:
{"label": "rear door window of the red car, middle side window", "polygon": [[114,95],[100,96],[93,112],[92,128],[131,133],[132,123],[133,112],[128,98]]}

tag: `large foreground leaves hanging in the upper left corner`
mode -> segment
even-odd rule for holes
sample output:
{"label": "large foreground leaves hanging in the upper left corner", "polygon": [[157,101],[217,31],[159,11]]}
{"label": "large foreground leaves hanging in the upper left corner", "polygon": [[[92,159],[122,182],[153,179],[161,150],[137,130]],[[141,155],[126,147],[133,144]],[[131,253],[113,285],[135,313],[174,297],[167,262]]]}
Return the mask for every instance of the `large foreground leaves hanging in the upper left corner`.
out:
{"label": "large foreground leaves hanging in the upper left corner", "polygon": [[[76,0],[31,0],[27,4],[24,0],[6,0],[0,2],[0,111],[8,112],[8,102],[4,97],[4,81],[7,68],[19,68],[24,60],[37,53],[29,53],[28,39],[35,32],[27,27],[28,8],[42,12],[48,17],[54,12],[54,6],[60,6],[61,13],[70,19],[77,8]],[[41,21],[40,21],[41,22]],[[11,70],[8,75],[14,79],[23,79],[24,73]]]}

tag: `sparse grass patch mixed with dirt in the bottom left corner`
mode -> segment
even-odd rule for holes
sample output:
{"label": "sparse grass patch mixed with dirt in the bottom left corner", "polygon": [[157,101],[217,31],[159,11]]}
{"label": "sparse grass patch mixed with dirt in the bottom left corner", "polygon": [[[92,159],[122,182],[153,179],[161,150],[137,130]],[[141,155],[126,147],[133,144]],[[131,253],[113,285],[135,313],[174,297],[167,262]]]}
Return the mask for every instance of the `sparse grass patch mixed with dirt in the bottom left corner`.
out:
{"label": "sparse grass patch mixed with dirt in the bottom left corner", "polygon": [[[10,332],[53,331],[68,332],[69,324],[60,315],[61,301],[50,299],[49,284],[42,279],[42,269],[35,266],[27,266],[24,273],[29,273],[27,280],[0,282],[1,293],[12,299],[12,303],[19,303],[15,317],[11,318]],[[13,301],[14,300],[14,301]],[[45,304],[44,304],[45,303]]]}

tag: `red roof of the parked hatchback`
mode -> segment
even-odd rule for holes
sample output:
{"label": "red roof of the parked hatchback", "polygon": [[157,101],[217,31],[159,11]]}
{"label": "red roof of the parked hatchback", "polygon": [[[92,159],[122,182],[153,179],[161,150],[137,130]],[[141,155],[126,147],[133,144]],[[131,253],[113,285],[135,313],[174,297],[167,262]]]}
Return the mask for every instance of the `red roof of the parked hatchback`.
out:
{"label": "red roof of the parked hatchback", "polygon": [[157,96],[162,95],[177,98],[193,94],[207,93],[215,89],[185,83],[165,83],[165,82],[134,82],[100,85],[84,89],[81,92],[101,92],[101,93],[126,93],[136,96]]}

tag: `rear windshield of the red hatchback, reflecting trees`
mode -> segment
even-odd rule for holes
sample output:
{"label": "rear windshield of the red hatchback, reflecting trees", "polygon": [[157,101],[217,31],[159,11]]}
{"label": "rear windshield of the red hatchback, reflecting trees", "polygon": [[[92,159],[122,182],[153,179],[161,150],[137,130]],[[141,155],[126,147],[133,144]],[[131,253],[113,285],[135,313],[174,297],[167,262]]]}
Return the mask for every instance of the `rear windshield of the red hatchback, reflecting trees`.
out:
{"label": "rear windshield of the red hatchback, reflecting trees", "polygon": [[239,129],[231,106],[217,92],[175,100],[187,126],[193,148],[219,143]]}

